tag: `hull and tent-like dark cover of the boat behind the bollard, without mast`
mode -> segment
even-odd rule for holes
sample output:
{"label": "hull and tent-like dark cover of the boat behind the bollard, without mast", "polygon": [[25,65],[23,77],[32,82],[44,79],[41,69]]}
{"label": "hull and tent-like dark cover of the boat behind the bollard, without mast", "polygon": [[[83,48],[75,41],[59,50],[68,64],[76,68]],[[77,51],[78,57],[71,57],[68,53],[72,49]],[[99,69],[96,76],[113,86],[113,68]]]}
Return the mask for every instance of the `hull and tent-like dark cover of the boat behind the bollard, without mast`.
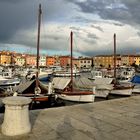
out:
{"label": "hull and tent-like dark cover of the boat behind the bollard, without mast", "polygon": [[[38,89],[36,89],[36,80],[26,81],[20,83],[18,86],[13,88],[13,96],[29,97],[32,101],[46,102],[55,99],[55,95],[49,91],[49,87],[44,85],[41,81],[38,81]],[[39,91],[35,91],[39,90]],[[35,93],[36,92],[36,93]]]}

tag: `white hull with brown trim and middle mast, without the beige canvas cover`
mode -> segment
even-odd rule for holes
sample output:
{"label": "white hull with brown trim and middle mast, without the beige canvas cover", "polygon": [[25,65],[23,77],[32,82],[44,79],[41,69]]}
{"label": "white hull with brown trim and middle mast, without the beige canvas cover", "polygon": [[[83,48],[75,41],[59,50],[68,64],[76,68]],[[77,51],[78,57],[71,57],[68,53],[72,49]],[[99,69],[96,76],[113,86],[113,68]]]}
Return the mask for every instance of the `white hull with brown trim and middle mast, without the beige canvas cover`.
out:
{"label": "white hull with brown trim and middle mast, without the beige canvas cover", "polygon": [[94,102],[95,91],[82,91],[73,88],[73,32],[70,33],[71,37],[71,79],[67,87],[59,92],[58,97],[63,100],[74,101],[74,102]]}

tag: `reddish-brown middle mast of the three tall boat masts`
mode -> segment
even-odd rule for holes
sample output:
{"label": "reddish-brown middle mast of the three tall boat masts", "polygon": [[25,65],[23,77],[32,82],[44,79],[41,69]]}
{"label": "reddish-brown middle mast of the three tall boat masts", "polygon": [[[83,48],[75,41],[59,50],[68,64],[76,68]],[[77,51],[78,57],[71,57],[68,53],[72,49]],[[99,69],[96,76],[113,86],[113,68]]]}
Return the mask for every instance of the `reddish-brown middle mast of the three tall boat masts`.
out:
{"label": "reddish-brown middle mast of the three tall boat masts", "polygon": [[70,33],[70,45],[71,45],[71,65],[70,65],[70,67],[71,67],[71,91],[73,91],[73,61],[72,61],[72,58],[73,58],[73,54],[72,54],[72,52],[73,52],[73,32],[71,31],[71,33]]}

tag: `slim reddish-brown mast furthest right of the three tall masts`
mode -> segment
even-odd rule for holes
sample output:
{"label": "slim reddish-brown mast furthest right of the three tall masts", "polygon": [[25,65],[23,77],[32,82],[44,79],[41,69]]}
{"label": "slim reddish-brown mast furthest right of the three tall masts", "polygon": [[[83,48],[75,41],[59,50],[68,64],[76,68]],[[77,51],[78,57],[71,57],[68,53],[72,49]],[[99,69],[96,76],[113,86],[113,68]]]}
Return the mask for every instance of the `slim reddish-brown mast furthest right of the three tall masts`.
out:
{"label": "slim reddish-brown mast furthest right of the three tall masts", "polygon": [[116,82],[116,34],[114,33],[114,87]]}

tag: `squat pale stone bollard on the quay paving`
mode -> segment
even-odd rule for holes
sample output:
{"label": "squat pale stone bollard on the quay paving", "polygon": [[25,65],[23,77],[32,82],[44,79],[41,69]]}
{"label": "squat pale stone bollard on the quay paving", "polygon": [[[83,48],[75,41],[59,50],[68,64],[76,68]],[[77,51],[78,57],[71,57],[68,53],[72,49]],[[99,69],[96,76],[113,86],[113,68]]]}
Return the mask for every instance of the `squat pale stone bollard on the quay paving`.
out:
{"label": "squat pale stone bollard on the quay paving", "polygon": [[31,131],[29,121],[29,103],[31,99],[27,97],[6,97],[4,121],[2,133],[7,136],[21,135]]}

